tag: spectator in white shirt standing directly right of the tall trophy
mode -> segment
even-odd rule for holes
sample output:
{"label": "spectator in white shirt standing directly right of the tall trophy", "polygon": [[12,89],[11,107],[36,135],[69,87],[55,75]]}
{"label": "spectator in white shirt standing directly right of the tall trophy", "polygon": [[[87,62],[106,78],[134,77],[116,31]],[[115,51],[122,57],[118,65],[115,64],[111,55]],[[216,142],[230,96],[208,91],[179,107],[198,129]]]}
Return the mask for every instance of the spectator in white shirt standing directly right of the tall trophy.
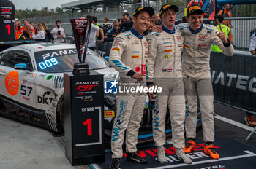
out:
{"label": "spectator in white shirt standing directly right of the tall trophy", "polygon": [[[90,16],[90,15],[88,15],[87,16],[87,20],[89,20],[89,22],[88,22],[88,24],[90,24],[90,23],[93,23],[93,18]],[[91,31],[90,31],[90,37],[89,37],[89,43],[88,43],[88,48],[90,49],[90,50],[95,50],[95,46],[96,46],[96,32],[97,31],[99,31],[100,32],[100,35],[101,35],[101,40],[100,40],[100,42],[102,43],[102,42],[104,42],[104,33],[103,33],[103,30],[102,30],[102,28],[99,28],[99,27],[97,27],[97,26],[95,26],[94,24],[91,24]],[[86,31],[86,34],[88,33],[88,29],[87,29],[87,31]]]}

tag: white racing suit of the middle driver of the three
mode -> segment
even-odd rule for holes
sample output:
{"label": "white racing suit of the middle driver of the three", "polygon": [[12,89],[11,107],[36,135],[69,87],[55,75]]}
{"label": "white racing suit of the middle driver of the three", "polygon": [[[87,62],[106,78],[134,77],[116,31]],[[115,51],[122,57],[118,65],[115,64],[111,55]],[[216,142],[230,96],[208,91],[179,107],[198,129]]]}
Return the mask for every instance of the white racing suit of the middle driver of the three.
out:
{"label": "white racing suit of the middle driver of the three", "polygon": [[153,138],[156,146],[165,144],[165,117],[170,110],[173,146],[184,148],[185,98],[181,72],[181,52],[184,35],[176,30],[174,34],[151,33],[148,39],[147,84],[162,87],[157,93],[153,111]]}

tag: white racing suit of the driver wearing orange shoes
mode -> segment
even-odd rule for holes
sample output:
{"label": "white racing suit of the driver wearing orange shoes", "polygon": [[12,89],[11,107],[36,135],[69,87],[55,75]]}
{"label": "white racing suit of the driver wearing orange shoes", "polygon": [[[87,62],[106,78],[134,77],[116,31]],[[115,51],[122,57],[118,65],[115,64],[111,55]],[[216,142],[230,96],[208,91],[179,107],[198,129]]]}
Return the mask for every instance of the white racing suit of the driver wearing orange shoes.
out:
{"label": "white racing suit of the driver wearing orange shoes", "polygon": [[[217,45],[227,56],[232,56],[233,45],[223,44],[213,25],[203,24],[198,31],[192,31],[189,23],[181,23],[178,30],[184,33],[184,52],[182,54],[182,73],[187,96],[189,115],[186,117],[186,137],[195,138],[197,126],[197,95],[202,115],[203,139],[214,141],[214,95],[210,74],[211,45]],[[192,34],[194,33],[194,34]]]}

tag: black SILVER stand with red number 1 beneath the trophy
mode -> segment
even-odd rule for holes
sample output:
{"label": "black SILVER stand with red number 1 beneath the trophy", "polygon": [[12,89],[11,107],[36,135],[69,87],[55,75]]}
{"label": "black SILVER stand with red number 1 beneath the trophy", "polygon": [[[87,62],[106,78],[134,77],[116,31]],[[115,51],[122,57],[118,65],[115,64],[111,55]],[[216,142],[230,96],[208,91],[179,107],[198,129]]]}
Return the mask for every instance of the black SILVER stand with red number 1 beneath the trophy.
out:
{"label": "black SILVER stand with red number 1 beneath the trophy", "polygon": [[102,74],[64,74],[65,153],[72,165],[105,161],[103,91]]}

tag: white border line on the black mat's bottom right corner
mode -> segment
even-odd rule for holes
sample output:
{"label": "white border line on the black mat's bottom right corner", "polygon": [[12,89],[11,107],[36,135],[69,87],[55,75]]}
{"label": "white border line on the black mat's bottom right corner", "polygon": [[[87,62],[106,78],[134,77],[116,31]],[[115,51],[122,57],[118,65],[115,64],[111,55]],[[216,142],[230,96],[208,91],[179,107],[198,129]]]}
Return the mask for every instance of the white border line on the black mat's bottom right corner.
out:
{"label": "white border line on the black mat's bottom right corner", "polygon": [[[248,150],[244,151],[246,154],[244,155],[238,155],[238,156],[233,156],[233,157],[224,157],[224,158],[220,158],[219,160],[203,160],[203,161],[199,161],[199,162],[193,162],[191,165],[198,165],[198,164],[203,164],[203,163],[208,163],[208,162],[219,162],[219,161],[225,161],[225,160],[234,160],[234,159],[240,159],[240,158],[245,158],[245,157],[254,157],[256,156],[255,153],[250,152]],[[159,166],[157,168],[148,168],[148,169],[159,169],[159,168],[178,168],[178,167],[182,167],[182,166],[189,166],[187,164],[178,164],[178,165],[165,165],[165,166]]]}

